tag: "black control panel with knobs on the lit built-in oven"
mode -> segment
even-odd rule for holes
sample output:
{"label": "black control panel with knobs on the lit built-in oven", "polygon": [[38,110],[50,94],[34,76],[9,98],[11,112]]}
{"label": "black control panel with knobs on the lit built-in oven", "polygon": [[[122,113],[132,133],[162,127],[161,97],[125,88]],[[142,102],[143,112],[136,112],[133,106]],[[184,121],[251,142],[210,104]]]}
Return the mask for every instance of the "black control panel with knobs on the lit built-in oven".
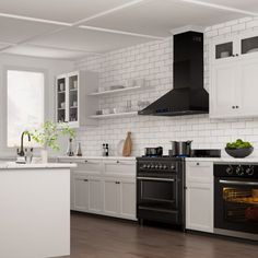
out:
{"label": "black control panel with knobs on the lit built-in oven", "polygon": [[214,176],[258,178],[258,164],[214,164]]}

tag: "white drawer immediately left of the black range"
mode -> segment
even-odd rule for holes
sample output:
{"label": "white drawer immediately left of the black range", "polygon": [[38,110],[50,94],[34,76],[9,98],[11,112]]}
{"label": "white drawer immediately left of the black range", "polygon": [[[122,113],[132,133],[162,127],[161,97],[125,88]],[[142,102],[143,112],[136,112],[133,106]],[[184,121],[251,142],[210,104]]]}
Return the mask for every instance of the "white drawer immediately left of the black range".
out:
{"label": "white drawer immediately left of the black range", "polygon": [[104,162],[105,174],[120,174],[120,175],[136,175],[136,162],[134,161],[105,161]]}

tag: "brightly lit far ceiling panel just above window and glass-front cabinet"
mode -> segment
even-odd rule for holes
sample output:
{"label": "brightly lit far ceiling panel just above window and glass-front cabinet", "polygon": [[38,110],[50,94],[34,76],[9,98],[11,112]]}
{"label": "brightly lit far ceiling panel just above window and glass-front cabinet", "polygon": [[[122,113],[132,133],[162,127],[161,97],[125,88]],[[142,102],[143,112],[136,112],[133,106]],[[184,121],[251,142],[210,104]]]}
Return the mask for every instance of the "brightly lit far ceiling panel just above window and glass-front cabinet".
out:
{"label": "brightly lit far ceiling panel just above window and glass-front cabinet", "polygon": [[77,60],[79,58],[83,58],[90,55],[82,51],[70,51],[70,50],[63,50],[63,49],[44,48],[44,47],[32,46],[32,45],[15,46],[15,47],[4,50],[4,52],[13,54],[13,55],[22,55],[22,56],[40,57],[40,58],[63,59],[63,60]]}

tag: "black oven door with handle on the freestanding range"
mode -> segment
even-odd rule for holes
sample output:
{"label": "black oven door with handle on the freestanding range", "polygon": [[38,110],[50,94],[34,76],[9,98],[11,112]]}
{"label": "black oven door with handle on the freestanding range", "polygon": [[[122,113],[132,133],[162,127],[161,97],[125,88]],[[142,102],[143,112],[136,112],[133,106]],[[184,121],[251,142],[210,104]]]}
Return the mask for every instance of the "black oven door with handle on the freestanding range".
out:
{"label": "black oven door with handle on the freestanding range", "polygon": [[176,177],[137,177],[137,189],[139,209],[172,211],[178,207]]}

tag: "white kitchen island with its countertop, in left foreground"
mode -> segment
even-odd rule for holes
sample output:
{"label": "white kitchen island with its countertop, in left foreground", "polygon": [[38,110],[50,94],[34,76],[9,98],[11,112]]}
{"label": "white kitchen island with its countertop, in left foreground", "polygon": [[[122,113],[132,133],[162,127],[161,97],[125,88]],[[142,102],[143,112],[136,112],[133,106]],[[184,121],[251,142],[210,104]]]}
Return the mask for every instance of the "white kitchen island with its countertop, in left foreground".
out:
{"label": "white kitchen island with its countertop, in left foreground", "polygon": [[0,163],[0,257],[70,255],[70,168]]}

